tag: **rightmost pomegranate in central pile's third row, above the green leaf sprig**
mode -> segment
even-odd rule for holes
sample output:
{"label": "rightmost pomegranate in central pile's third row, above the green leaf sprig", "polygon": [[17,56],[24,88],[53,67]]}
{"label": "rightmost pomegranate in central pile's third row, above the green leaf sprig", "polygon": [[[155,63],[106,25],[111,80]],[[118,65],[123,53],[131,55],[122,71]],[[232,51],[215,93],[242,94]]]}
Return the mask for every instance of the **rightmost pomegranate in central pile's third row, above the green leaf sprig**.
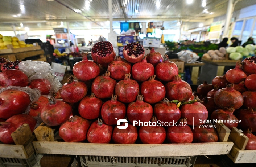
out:
{"label": "rightmost pomegranate in central pile's third row, above the green leaf sprig", "polygon": [[187,101],[192,96],[190,85],[183,81],[178,75],[174,80],[165,85],[166,97],[169,100]]}

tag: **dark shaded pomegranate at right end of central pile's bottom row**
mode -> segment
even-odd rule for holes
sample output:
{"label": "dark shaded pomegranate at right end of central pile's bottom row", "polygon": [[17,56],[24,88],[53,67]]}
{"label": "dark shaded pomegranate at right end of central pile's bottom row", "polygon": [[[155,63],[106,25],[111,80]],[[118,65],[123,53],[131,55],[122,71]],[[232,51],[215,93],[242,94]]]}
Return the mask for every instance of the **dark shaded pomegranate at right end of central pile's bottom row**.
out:
{"label": "dark shaded pomegranate at right end of central pile's bottom row", "polygon": [[210,123],[205,123],[203,128],[195,126],[193,132],[193,142],[217,142],[218,135]]}

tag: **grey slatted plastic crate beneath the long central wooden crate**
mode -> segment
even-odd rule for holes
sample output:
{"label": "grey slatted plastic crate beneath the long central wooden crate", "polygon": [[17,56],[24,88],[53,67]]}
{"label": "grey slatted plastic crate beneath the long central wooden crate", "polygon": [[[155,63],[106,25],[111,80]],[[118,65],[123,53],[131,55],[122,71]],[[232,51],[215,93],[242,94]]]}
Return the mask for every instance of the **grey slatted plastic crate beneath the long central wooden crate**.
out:
{"label": "grey slatted plastic crate beneath the long central wooden crate", "polygon": [[110,157],[80,156],[82,167],[193,167],[193,157]]}

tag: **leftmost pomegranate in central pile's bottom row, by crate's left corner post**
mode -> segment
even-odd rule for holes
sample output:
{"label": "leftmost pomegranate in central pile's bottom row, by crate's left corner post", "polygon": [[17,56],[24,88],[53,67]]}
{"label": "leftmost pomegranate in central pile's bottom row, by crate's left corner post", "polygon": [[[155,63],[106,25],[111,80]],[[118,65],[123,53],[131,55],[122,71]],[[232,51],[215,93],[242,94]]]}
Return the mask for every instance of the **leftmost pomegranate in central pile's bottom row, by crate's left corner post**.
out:
{"label": "leftmost pomegranate in central pile's bottom row, by crate's left corner post", "polygon": [[82,142],[86,139],[90,122],[79,116],[69,118],[59,127],[59,136],[65,142]]}

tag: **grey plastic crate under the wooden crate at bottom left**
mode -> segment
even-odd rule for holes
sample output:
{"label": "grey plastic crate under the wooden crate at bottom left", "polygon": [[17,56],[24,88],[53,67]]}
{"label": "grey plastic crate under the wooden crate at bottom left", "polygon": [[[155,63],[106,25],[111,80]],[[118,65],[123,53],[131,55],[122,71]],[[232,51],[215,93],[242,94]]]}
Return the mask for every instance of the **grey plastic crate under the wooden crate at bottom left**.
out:
{"label": "grey plastic crate under the wooden crate at bottom left", "polygon": [[0,167],[40,167],[40,159],[43,155],[35,152],[28,159],[0,157]]}

